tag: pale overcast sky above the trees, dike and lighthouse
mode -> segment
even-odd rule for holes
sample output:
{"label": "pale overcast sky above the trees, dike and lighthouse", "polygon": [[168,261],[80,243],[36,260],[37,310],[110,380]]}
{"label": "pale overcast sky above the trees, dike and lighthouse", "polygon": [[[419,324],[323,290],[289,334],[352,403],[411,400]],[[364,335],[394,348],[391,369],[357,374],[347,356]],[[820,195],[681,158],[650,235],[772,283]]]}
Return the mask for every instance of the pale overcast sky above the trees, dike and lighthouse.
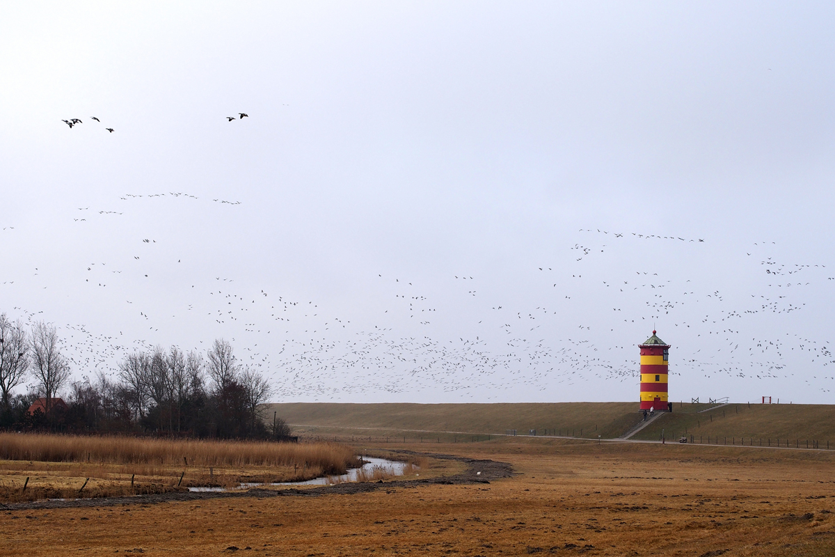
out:
{"label": "pale overcast sky above the trees, dike and lighthouse", "polygon": [[0,311],[281,401],[637,401],[655,327],[671,400],[831,403],[833,11],[3,3]]}

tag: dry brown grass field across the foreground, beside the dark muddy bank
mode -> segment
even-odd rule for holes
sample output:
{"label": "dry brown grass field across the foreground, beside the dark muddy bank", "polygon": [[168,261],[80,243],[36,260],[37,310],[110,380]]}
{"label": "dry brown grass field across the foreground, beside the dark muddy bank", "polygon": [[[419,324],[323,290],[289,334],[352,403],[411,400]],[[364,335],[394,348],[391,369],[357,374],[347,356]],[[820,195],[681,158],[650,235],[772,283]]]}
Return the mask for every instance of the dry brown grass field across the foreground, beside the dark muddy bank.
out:
{"label": "dry brown grass field across the foreground, beside the dark muddy bank", "polygon": [[385,481],[359,494],[0,510],[0,554],[835,554],[835,451],[545,438],[356,447],[428,448],[509,462],[517,474]]}

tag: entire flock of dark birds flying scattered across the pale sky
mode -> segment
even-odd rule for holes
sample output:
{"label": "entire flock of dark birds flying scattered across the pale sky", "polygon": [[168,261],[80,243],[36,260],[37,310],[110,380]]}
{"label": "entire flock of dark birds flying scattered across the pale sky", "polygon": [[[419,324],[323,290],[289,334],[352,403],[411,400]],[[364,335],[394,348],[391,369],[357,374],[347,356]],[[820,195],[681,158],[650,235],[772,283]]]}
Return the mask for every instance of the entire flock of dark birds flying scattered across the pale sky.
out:
{"label": "entire flock of dark birds flying scattered across the pale sky", "polygon": [[[248,115],[238,113],[238,119],[244,118]],[[70,128],[82,124],[79,119],[64,122]],[[119,199],[180,197],[199,199],[183,192],[124,194]],[[98,215],[124,211],[99,210]],[[144,265],[163,261],[153,250],[164,240],[144,237],[136,239],[122,261],[85,264],[84,283],[121,289],[126,321],[128,316],[141,320],[150,337],[159,339],[155,333],[160,329],[169,334],[183,327],[216,331],[215,337],[233,343],[240,362],[272,377],[278,395],[285,398],[444,392],[489,400],[504,399],[514,387],[564,399],[560,392],[615,384],[623,393],[620,399],[631,400],[637,392],[635,344],[656,327],[674,345],[671,373],[691,384],[695,378],[707,384],[729,377],[751,389],[767,389],[763,381],[793,377],[810,389],[830,392],[835,380],[832,343],[790,328],[794,314],[807,311],[807,301],[815,302],[809,289],[835,280],[826,276],[826,266],[783,261],[773,242],[740,246],[740,255],[746,254],[741,265],[758,277],[742,295],[717,289],[710,277],[686,278],[663,261],[644,265],[645,254],[653,252],[681,252],[697,259],[710,246],[704,238],[596,228],[577,234],[552,261],[521,271],[528,299],[537,303],[520,301],[491,277],[472,272],[451,273],[448,280],[430,284],[369,271],[375,300],[357,304],[353,315],[338,315],[315,300],[273,294],[272,285],[239,286],[246,283],[235,281],[240,276],[192,276],[182,304],[171,309],[143,301],[143,292],[130,291],[127,285],[132,283],[124,280],[134,276],[156,281]],[[646,242],[654,242],[649,251]],[[134,252],[139,246],[151,251]],[[625,253],[635,254],[631,268],[606,259]],[[746,259],[751,257],[759,261]],[[177,266],[185,258],[169,259],[164,265]],[[13,284],[0,276],[0,287]],[[170,284],[156,282],[154,287]],[[376,313],[359,306],[374,307]],[[43,311],[13,310],[30,323],[45,318]],[[121,331],[95,333],[78,324],[62,328],[63,352],[78,377],[114,374],[126,354],[154,344]],[[211,340],[195,348],[207,347]],[[167,342],[176,344],[177,339]]]}

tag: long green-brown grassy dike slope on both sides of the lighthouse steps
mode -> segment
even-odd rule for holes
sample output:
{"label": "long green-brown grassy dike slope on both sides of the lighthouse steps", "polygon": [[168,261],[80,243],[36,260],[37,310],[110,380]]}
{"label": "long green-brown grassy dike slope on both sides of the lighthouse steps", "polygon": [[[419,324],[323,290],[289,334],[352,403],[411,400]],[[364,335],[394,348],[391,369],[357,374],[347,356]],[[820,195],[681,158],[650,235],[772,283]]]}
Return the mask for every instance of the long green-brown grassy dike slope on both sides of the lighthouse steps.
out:
{"label": "long green-brown grassy dike slope on both sides of the lighthouse steps", "polygon": [[[772,446],[780,440],[785,446],[805,447],[806,440],[827,440],[835,449],[835,405],[824,404],[730,404],[715,408],[711,404],[673,403],[673,413],[665,414],[636,433],[633,439],[677,440],[693,435],[694,441]],[[303,432],[330,432],[347,435],[397,435],[409,438],[443,432],[504,434],[516,429],[527,435],[567,435],[578,438],[617,438],[640,422],[637,403],[498,403],[498,404],[271,404],[265,413],[268,422],[276,412],[292,428]],[[364,432],[364,433],[363,433]]]}

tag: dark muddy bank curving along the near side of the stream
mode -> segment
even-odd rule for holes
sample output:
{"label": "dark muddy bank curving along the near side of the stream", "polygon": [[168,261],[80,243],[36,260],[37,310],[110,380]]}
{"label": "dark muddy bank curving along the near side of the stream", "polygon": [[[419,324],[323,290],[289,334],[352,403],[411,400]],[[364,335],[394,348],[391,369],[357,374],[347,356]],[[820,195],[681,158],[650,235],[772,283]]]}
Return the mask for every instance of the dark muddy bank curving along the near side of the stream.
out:
{"label": "dark muddy bank curving along the near side of the stream", "polygon": [[393,454],[408,456],[438,458],[453,460],[467,465],[462,473],[452,476],[438,476],[425,479],[393,479],[378,482],[355,482],[350,484],[323,485],[306,489],[262,489],[253,488],[246,491],[232,492],[191,492],[183,491],[169,494],[133,495],[129,497],[102,497],[98,499],[70,499],[66,501],[29,501],[27,503],[0,504],[0,510],[31,510],[31,509],[76,509],[89,507],[111,507],[126,504],[157,504],[178,503],[187,501],[205,501],[206,499],[240,499],[271,497],[321,497],[323,495],[364,494],[377,489],[417,488],[421,485],[466,485],[489,484],[496,479],[514,476],[514,469],[509,463],[495,460],[480,460],[478,458],[459,457],[453,454],[416,453],[413,451],[392,451]]}

